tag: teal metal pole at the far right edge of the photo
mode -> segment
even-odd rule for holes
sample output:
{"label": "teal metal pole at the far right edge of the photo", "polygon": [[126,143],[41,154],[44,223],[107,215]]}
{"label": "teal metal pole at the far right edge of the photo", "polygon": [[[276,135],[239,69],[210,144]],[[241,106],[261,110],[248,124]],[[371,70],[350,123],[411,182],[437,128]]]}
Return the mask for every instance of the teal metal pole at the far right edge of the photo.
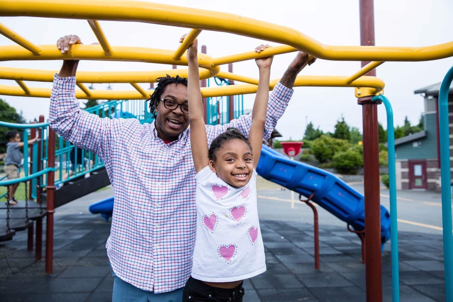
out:
{"label": "teal metal pole at the far right edge of the photo", "polygon": [[439,90],[440,176],[442,186],[443,266],[445,301],[453,301],[453,235],[450,179],[450,139],[448,127],[448,92],[453,80],[453,67],[443,78]]}

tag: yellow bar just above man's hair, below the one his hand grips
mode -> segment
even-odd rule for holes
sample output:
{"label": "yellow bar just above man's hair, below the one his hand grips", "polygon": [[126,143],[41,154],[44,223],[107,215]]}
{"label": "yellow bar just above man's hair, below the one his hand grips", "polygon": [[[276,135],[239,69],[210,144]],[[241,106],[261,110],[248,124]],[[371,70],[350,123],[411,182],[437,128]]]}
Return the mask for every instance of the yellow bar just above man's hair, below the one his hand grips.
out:
{"label": "yellow bar just above man's hair, below the one his hand grips", "polygon": [[[13,67],[0,67],[0,79],[21,80],[21,81],[40,81],[52,82],[53,75],[57,71],[47,71],[38,69],[25,69]],[[208,69],[199,68],[200,80],[212,77]],[[156,78],[188,76],[188,69],[169,69],[160,71],[136,71],[136,72],[83,72],[77,71],[77,83],[155,83]]]}

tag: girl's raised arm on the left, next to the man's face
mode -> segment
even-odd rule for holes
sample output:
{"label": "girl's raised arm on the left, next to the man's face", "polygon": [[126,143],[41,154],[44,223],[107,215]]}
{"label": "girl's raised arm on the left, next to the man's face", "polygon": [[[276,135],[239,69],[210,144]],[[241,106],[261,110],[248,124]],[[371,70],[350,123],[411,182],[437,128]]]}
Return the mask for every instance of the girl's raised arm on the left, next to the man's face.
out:
{"label": "girl's raised arm on the left, next to the man's face", "polygon": [[[183,42],[184,36],[179,42]],[[187,51],[188,73],[188,105],[190,125],[190,145],[193,164],[198,173],[208,163],[206,127],[203,119],[203,101],[200,91],[200,74],[198,72],[198,41],[195,39]]]}

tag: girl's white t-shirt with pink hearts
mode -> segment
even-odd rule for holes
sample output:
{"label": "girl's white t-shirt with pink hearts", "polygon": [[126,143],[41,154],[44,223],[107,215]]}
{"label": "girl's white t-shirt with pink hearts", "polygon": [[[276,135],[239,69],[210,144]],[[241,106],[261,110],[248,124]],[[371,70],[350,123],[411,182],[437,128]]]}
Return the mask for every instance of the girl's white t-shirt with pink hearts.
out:
{"label": "girl's white t-shirt with pink hearts", "polygon": [[197,236],[192,277],[231,282],[266,271],[256,206],[256,176],[245,187],[231,187],[209,167],[195,177]]}

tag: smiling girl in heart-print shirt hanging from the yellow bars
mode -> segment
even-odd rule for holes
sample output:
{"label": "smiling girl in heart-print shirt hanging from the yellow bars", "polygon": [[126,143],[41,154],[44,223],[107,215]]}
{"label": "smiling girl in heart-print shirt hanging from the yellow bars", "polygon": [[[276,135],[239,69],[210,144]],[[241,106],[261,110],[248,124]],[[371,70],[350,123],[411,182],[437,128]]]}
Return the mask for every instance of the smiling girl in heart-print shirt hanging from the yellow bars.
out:
{"label": "smiling girl in heart-print shirt hanging from the yellow bars", "polygon": [[[242,280],[265,272],[256,207],[256,171],[263,142],[272,57],[260,72],[249,138],[231,128],[208,149],[200,93],[197,40],[188,48],[190,143],[196,170],[197,236],[183,301],[242,301]],[[268,45],[257,48],[260,52]]]}

